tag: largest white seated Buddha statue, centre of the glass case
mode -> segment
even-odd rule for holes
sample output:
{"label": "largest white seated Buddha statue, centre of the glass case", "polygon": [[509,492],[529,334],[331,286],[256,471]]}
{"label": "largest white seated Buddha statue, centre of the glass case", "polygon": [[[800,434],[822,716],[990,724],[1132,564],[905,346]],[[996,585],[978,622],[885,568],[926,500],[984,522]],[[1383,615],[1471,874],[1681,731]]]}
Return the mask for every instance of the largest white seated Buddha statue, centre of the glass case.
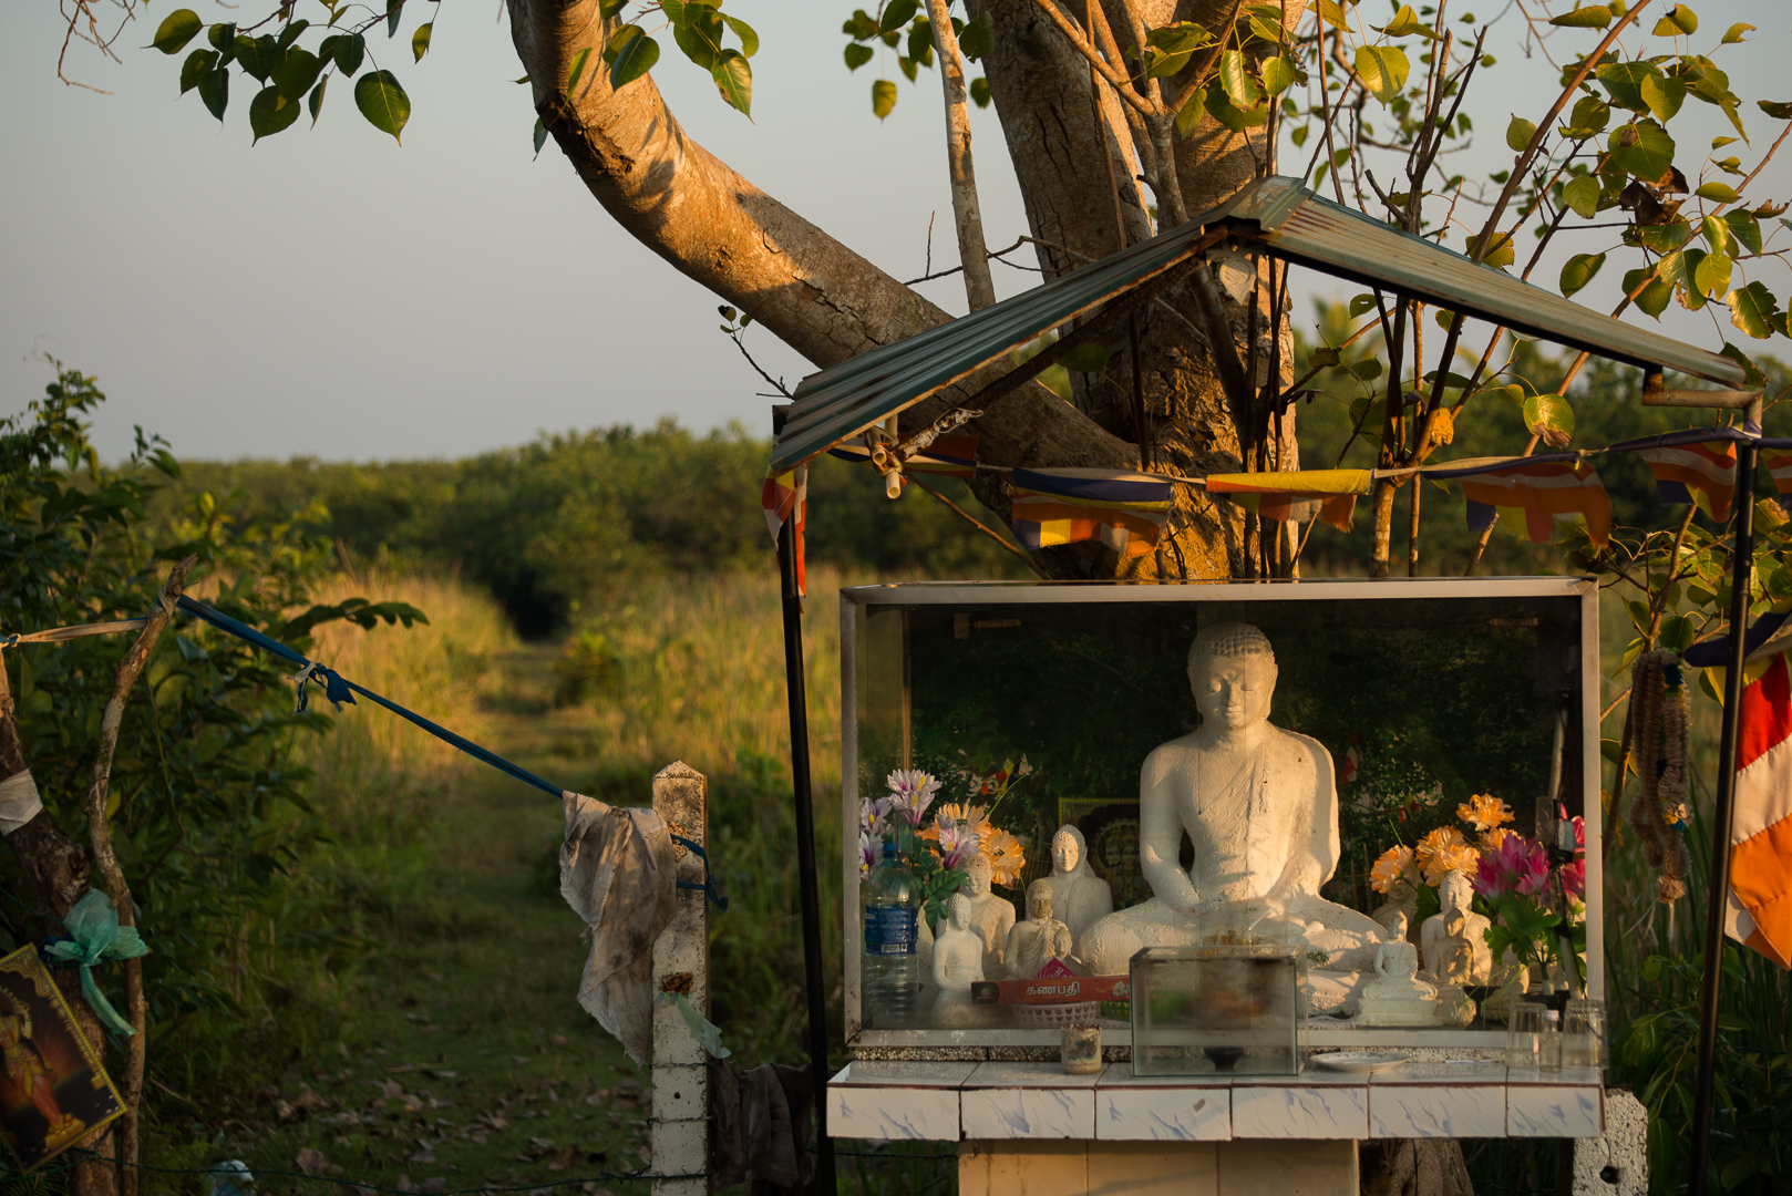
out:
{"label": "largest white seated Buddha statue, centre of the glass case", "polygon": [[[1355,1011],[1383,929],[1319,897],[1339,864],[1331,753],[1269,723],[1276,656],[1249,624],[1204,628],[1188,649],[1201,726],[1140,773],[1140,871],[1154,897],[1100,918],[1077,941],[1097,975],[1142,947],[1271,941],[1303,947],[1314,1013]],[[1195,861],[1177,862],[1183,832]]]}

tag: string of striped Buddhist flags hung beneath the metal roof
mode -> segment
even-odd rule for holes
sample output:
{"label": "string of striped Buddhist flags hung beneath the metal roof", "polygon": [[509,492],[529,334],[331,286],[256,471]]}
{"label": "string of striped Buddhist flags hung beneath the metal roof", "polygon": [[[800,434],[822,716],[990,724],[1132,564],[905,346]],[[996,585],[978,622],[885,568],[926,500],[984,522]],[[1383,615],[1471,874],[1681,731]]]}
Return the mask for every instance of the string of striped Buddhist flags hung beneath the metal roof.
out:
{"label": "string of striped Buddhist flags hung beneath the metal roof", "polygon": [[[987,466],[977,461],[977,438],[959,434],[941,436],[926,450],[901,461],[900,468],[966,481],[978,468],[1007,473],[1012,488],[1009,522],[1014,536],[1032,552],[1098,540],[1124,558],[1145,556],[1158,547],[1174,506],[1176,486],[1195,486],[1210,495],[1224,495],[1260,518],[1296,524],[1319,518],[1339,531],[1349,531],[1360,495],[1367,495],[1380,479],[1410,475],[1459,482],[1468,498],[1469,531],[1484,531],[1503,513],[1511,525],[1525,527],[1532,543],[1550,543],[1557,520],[1581,518],[1591,542],[1604,547],[1611,536],[1611,497],[1590,457],[1633,452],[1654,475],[1661,502],[1697,504],[1722,524],[1731,513],[1740,441],[1760,446],[1760,459],[1774,479],[1774,490],[1779,495],[1792,495],[1792,438],[1762,438],[1733,427],[1683,429],[1607,448],[1530,457],[1469,457],[1403,470],[1292,470],[1208,477]],[[876,464],[873,450],[857,441],[835,445],[828,452],[842,461]],[[889,463],[885,457],[885,466]],[[774,538],[783,520],[796,511],[799,579],[805,491],[806,470],[796,470],[767,477],[762,495],[765,520]]]}

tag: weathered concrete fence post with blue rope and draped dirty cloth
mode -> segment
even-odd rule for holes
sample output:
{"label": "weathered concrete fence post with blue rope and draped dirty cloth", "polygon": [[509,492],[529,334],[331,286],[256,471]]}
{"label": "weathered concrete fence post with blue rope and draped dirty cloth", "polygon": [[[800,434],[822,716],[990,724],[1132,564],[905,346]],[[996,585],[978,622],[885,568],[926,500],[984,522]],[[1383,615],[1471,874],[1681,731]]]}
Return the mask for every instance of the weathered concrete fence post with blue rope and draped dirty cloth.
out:
{"label": "weathered concrete fence post with blue rope and draped dirty cloth", "polygon": [[[654,775],[654,812],[674,836],[708,846],[708,782],[683,760]],[[688,846],[672,845],[677,879],[702,884],[706,868]],[[688,979],[686,979],[688,977]],[[710,1017],[710,909],[704,891],[679,889],[677,914],[654,941],[658,992],[685,992],[690,1006]],[[688,984],[688,986],[686,986]],[[708,1054],[690,1033],[677,1006],[654,1001],[654,1196],[708,1196],[710,1192],[710,1069]]]}

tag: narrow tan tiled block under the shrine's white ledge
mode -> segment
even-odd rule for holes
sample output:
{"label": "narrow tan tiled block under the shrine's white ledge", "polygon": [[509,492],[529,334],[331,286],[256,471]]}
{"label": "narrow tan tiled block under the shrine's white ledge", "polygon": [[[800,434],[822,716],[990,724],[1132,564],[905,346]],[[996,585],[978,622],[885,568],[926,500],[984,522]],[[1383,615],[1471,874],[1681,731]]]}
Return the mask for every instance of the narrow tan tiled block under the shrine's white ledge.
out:
{"label": "narrow tan tiled block under the shrine's white ledge", "polygon": [[1357,1142],[964,1142],[959,1192],[1357,1196]]}

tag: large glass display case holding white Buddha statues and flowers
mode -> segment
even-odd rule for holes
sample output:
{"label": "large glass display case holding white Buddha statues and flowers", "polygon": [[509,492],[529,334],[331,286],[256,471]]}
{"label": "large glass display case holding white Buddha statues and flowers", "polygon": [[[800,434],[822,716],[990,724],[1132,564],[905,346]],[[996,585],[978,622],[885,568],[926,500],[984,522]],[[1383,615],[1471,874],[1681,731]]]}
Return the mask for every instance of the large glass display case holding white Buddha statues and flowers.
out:
{"label": "large glass display case holding white Buddha statues and flowers", "polygon": [[[1362,1001],[1425,992],[1452,943],[1450,975],[1473,972],[1487,950],[1460,941],[1500,922],[1500,868],[1564,843],[1584,855],[1550,855],[1536,900],[1584,943],[1536,954],[1604,997],[1590,579],[860,586],[840,635],[842,909],[860,916],[885,843],[923,906],[907,972],[848,923],[849,1047],[1045,1047],[1093,1015],[1109,1045],[1193,1033],[1163,1065],[1249,1051],[1197,1042],[1236,1031],[1215,1024],[1236,986],[1202,968],[1244,947],[1281,977],[1263,972],[1262,1017],[1283,1008],[1265,993],[1299,995],[1253,1024],[1276,1036],[1263,1060],[1296,1049],[1288,1027],[1314,1047],[1500,1047],[1478,1011],[1373,1026]],[[1396,941],[1417,975],[1389,979]],[[1186,999],[1134,1006],[1136,958],[1195,968]],[[1516,974],[1478,966],[1475,1002]],[[887,1008],[892,990],[912,999]]]}

